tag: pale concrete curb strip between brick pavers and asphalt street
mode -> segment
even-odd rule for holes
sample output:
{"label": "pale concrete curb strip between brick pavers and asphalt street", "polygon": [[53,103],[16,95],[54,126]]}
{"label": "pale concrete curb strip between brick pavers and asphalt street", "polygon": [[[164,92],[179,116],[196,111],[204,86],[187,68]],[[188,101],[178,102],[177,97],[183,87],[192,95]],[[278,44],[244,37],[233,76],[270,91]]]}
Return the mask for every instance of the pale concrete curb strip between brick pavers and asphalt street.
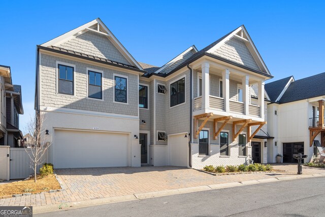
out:
{"label": "pale concrete curb strip between brick pavers and asphalt street", "polygon": [[154,198],[154,197],[163,197],[163,196],[185,194],[185,193],[192,193],[192,192],[233,188],[233,187],[240,187],[244,185],[261,184],[261,183],[268,183],[268,182],[275,182],[275,181],[285,181],[285,180],[293,180],[293,179],[301,179],[301,178],[317,178],[322,176],[325,176],[325,174],[290,175],[290,176],[283,176],[277,178],[265,178],[265,179],[258,179],[258,180],[248,180],[248,181],[230,182],[230,183],[222,183],[222,184],[201,185],[198,187],[189,187],[189,188],[173,189],[173,190],[158,191],[158,192],[147,192],[147,193],[139,193],[134,195],[124,195],[124,196],[117,196],[117,197],[108,197],[108,198],[68,202],[68,203],[45,205],[45,206],[33,206],[33,213],[36,214],[36,213],[44,213],[44,212],[51,212],[51,211],[58,211],[58,210],[68,210],[68,209],[81,208],[81,207],[94,206],[94,205],[126,202],[132,200],[143,200],[143,199]]}

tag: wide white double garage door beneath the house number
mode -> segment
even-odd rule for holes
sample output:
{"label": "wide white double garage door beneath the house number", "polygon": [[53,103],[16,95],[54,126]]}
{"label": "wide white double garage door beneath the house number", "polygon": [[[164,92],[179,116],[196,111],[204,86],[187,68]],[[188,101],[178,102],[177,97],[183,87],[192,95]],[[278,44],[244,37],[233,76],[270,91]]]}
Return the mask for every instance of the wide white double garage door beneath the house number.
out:
{"label": "wide white double garage door beneath the house number", "polygon": [[54,167],[128,166],[128,135],[55,130]]}

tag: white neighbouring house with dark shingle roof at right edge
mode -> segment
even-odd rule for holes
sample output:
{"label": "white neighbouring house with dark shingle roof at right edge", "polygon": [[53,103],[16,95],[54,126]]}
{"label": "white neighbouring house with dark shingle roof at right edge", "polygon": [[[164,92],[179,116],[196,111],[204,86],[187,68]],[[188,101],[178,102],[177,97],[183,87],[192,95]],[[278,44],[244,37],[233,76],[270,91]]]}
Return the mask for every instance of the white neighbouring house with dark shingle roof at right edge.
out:
{"label": "white neighbouring house with dark shingle roof at right edge", "polygon": [[268,162],[283,155],[283,163],[292,163],[293,154],[313,154],[325,147],[324,100],[325,73],[295,80],[293,76],[265,85],[271,99],[268,104]]}

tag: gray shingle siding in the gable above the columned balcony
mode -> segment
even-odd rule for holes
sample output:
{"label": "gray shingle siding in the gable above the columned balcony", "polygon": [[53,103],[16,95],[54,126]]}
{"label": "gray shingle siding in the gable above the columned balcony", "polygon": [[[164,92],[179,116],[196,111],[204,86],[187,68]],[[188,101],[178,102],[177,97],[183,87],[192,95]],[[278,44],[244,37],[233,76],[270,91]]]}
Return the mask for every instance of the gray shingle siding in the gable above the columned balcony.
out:
{"label": "gray shingle siding in the gable above the columned balcony", "polygon": [[232,38],[211,53],[252,69],[260,70],[247,46],[240,39]]}

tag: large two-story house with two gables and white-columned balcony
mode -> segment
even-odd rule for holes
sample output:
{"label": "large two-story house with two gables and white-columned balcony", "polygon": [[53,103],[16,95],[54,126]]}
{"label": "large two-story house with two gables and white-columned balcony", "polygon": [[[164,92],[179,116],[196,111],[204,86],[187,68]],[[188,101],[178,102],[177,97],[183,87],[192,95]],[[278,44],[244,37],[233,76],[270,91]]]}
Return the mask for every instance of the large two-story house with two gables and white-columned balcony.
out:
{"label": "large two-story house with two gables and white-columned balcony", "polygon": [[36,73],[55,168],[267,163],[273,76],[243,25],[156,67],[98,18],[38,45]]}

